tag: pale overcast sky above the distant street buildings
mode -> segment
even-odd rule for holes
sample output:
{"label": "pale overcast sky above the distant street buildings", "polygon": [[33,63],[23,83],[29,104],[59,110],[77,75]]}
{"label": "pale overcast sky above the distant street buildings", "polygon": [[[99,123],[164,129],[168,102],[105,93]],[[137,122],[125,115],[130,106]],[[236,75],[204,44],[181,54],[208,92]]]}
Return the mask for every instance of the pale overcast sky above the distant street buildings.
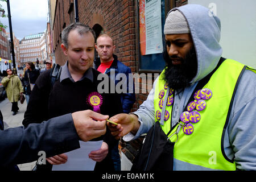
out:
{"label": "pale overcast sky above the distant street buildings", "polygon": [[[8,14],[7,3],[0,3]],[[46,30],[48,0],[10,0],[10,9],[13,33],[19,40]],[[1,18],[0,21],[8,26],[6,31],[10,32],[8,18]]]}

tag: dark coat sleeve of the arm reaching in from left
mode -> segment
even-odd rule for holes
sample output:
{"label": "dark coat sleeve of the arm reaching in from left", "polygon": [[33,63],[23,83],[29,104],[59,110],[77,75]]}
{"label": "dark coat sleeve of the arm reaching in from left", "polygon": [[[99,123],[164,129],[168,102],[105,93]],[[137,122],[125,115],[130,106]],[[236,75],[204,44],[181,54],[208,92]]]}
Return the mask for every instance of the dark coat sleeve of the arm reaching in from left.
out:
{"label": "dark coat sleeve of the arm reaching in from left", "polygon": [[0,138],[0,166],[33,162],[39,151],[45,151],[48,158],[80,147],[71,114],[26,128],[0,130]]}

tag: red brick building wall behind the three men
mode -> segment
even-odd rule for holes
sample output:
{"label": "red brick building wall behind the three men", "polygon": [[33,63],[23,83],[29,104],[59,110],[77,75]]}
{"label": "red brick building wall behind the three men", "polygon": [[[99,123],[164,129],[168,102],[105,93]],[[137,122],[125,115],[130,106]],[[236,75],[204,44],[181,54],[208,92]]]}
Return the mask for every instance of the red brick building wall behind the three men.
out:
{"label": "red brick building wall behind the three men", "polygon": [[[78,16],[76,15],[77,2]],[[167,15],[172,7],[181,6],[187,3],[187,0],[162,0],[164,3],[164,14]],[[50,21],[52,27],[53,52],[57,64],[63,65],[66,57],[61,51],[61,31],[70,23],[79,19],[79,22],[88,24],[96,32],[96,36],[104,32],[112,36],[115,48],[115,55],[118,60],[131,68],[133,73],[160,73],[160,71],[143,70],[140,68],[141,55],[139,52],[139,11],[137,0],[49,0]],[[165,19],[165,17],[164,17]],[[149,81],[148,81],[149,80]],[[154,78],[143,81],[136,78],[135,84],[139,85],[139,93],[136,94],[136,102],[132,111],[138,109],[139,105],[146,100]],[[121,143],[122,151],[126,153],[127,158],[131,160],[137,154],[137,149],[143,138],[134,142]]]}

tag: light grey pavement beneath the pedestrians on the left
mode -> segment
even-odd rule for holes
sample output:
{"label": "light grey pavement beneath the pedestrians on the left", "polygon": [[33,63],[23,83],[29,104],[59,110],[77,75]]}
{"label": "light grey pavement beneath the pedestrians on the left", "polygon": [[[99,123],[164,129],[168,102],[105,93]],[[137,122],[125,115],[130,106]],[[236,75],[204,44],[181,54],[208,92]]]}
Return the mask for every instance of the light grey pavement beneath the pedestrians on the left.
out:
{"label": "light grey pavement beneath the pedestrians on the left", "polygon": [[[3,114],[3,122],[5,129],[10,127],[22,126],[24,113],[27,109],[27,102],[24,101],[23,104],[20,104],[20,101],[18,101],[18,107],[18,113],[16,115],[13,115],[13,112],[11,111],[11,102],[9,102],[8,98],[5,98],[5,100],[0,101],[0,110]],[[35,163],[36,162],[18,164],[18,167],[20,171],[31,171],[32,168],[34,168]]]}

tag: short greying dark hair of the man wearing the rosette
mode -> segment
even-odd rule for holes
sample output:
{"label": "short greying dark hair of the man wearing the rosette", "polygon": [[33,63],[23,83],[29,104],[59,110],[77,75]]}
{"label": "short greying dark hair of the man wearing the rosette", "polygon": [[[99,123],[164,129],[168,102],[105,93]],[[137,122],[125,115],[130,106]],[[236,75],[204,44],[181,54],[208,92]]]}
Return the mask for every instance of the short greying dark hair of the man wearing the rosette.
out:
{"label": "short greying dark hair of the man wearing the rosette", "polygon": [[80,35],[91,32],[95,42],[96,34],[92,30],[92,28],[90,28],[87,24],[76,22],[76,23],[69,24],[61,32],[61,42],[64,44],[65,47],[68,48],[68,35],[69,35],[69,32],[71,32],[72,30],[77,30],[77,32],[79,32]]}

